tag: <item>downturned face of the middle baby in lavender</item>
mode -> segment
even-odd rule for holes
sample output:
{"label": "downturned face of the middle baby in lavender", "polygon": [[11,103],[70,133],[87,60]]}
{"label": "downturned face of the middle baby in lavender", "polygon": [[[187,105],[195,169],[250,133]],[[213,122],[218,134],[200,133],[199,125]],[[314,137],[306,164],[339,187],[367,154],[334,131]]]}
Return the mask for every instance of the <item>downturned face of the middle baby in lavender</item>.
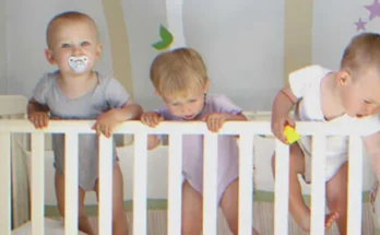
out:
{"label": "downturned face of the middle baby in lavender", "polygon": [[197,92],[187,96],[165,97],[164,101],[174,116],[191,120],[203,109],[204,92]]}

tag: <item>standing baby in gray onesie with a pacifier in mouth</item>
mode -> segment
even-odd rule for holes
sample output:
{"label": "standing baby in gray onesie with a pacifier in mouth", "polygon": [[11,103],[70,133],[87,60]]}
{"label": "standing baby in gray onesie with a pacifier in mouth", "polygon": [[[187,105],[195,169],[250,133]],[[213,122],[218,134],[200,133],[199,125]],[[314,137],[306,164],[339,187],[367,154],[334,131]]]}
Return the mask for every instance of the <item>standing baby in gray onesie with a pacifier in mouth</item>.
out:
{"label": "standing baby in gray onesie with a pacifier in mouth", "polygon": [[[47,127],[49,118],[96,119],[93,129],[110,137],[123,120],[142,114],[122,85],[112,77],[94,71],[102,54],[98,30],[88,15],[63,12],[56,15],[47,27],[46,59],[58,70],[46,73],[33,91],[28,103],[28,119],[36,128]],[[64,216],[64,139],[54,134],[56,195],[58,209]],[[75,156],[70,156],[75,157]],[[122,173],[114,148],[112,174],[112,234],[128,234],[123,210]],[[85,192],[98,196],[98,139],[96,134],[79,138],[79,228],[94,234],[84,212]]]}

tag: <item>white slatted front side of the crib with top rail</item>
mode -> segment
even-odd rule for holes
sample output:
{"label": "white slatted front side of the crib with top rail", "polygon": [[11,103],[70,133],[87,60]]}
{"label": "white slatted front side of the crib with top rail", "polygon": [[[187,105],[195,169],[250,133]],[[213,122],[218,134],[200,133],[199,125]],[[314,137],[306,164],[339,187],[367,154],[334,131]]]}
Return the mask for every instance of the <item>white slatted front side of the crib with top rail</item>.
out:
{"label": "white slatted front side of the crib with top rail", "polygon": [[[0,120],[0,234],[10,232],[10,133],[31,132],[32,148],[32,227],[33,234],[44,234],[44,132],[66,133],[66,234],[78,234],[78,134],[92,133],[93,121],[51,121],[44,130],[35,130],[27,120]],[[312,134],[312,203],[311,234],[324,234],[324,179],[317,177],[316,172],[323,172],[325,136],[351,136],[349,138],[349,234],[360,234],[361,230],[361,141],[360,127],[332,126],[320,122],[299,122],[300,134]],[[216,235],[216,156],[217,134],[209,132],[203,122],[163,122],[151,129],[140,121],[127,121],[120,126],[117,133],[135,134],[134,187],[133,187],[133,234],[147,234],[146,226],[146,138],[147,134],[169,134],[169,201],[168,201],[168,234],[180,233],[181,214],[181,134],[204,134],[204,234]],[[222,134],[239,134],[240,148],[240,189],[239,189],[239,231],[251,234],[252,227],[252,144],[254,134],[271,134],[269,121],[235,121],[227,122],[219,131]],[[287,234],[288,231],[288,175],[289,148],[276,141],[276,178],[275,178],[275,234]],[[111,234],[111,139],[99,139],[99,234]],[[355,157],[352,157],[355,156]],[[260,156],[258,156],[260,157]]]}

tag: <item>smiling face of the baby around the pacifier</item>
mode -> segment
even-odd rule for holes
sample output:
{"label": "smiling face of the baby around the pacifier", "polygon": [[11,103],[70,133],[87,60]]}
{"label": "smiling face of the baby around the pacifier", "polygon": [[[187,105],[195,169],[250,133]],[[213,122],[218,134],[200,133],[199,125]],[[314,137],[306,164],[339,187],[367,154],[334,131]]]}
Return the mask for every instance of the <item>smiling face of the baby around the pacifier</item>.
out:
{"label": "smiling face of the baby around the pacifier", "polygon": [[[52,28],[49,38],[51,63],[57,63],[63,74],[78,74],[91,71],[100,57],[102,45],[97,39],[96,26],[90,21],[61,21]],[[69,59],[84,58],[87,66],[78,72],[70,67]]]}

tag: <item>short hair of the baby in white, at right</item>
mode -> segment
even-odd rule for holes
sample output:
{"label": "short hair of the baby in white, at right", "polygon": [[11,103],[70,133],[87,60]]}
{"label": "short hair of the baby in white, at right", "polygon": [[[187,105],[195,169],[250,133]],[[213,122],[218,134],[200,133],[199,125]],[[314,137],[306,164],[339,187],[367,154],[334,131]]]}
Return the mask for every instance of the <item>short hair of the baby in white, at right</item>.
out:
{"label": "short hair of the baby in white, at right", "polygon": [[341,69],[352,73],[366,72],[368,68],[376,68],[380,72],[380,34],[377,33],[353,37],[341,61]]}

